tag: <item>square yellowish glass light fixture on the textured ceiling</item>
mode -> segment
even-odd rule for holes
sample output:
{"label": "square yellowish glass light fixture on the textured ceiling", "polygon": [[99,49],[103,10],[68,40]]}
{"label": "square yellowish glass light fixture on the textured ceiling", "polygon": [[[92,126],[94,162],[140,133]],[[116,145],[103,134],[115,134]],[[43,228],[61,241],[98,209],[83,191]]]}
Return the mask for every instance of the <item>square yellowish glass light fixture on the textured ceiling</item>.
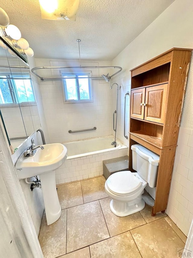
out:
{"label": "square yellowish glass light fixture on the textured ceiling", "polygon": [[79,0],[39,0],[42,19],[76,21]]}

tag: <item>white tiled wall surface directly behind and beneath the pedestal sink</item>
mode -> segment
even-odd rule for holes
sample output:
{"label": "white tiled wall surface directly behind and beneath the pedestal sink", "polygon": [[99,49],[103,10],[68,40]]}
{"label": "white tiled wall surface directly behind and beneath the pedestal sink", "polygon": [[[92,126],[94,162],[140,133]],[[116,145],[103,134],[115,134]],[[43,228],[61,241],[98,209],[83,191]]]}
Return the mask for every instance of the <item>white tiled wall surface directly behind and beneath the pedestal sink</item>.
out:
{"label": "white tiled wall surface directly behind and beneath the pedestal sink", "polygon": [[[21,153],[27,149],[31,145],[31,139],[35,140],[36,145],[42,144],[41,136],[39,133],[35,132],[30,139],[24,142],[21,147],[11,155],[13,164],[17,162],[17,159],[21,155]],[[34,178],[30,179],[31,181]],[[24,192],[24,197],[26,199],[27,207],[30,211],[30,215],[33,221],[33,225],[35,227],[37,235],[40,231],[40,225],[42,221],[43,211],[44,211],[44,201],[43,201],[43,194],[41,188],[34,188],[33,191],[30,189],[30,184],[27,184],[24,179],[20,180],[21,188]]]}

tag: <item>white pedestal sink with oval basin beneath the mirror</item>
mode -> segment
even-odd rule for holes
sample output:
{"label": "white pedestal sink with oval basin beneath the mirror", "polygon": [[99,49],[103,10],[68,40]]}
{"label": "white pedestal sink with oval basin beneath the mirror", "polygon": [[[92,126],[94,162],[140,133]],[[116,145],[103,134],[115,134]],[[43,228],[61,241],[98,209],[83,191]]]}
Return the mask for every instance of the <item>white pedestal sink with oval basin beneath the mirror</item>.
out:
{"label": "white pedestal sink with oval basin beneath the mirror", "polygon": [[47,224],[59,219],[61,207],[55,184],[55,169],[59,168],[67,158],[67,149],[61,143],[42,145],[31,157],[25,157],[24,152],[18,158],[15,169],[19,179],[40,175]]}

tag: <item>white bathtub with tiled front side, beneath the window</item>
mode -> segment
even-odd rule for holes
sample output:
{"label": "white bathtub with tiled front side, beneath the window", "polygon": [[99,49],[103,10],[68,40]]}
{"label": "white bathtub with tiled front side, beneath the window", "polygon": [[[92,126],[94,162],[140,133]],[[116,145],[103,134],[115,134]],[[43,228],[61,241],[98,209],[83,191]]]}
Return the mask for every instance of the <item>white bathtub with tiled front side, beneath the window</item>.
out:
{"label": "white bathtub with tiled front side, beneath the window", "polygon": [[56,185],[103,175],[103,160],[128,155],[128,147],[113,136],[63,143],[68,150],[64,164],[55,170]]}

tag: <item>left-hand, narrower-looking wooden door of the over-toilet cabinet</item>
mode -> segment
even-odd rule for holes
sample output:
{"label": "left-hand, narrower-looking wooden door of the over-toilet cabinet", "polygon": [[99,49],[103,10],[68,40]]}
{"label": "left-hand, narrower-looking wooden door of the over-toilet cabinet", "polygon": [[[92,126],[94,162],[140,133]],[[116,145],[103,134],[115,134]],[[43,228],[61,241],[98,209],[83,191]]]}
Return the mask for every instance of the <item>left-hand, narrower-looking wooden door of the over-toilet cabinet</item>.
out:
{"label": "left-hand, narrower-looking wooden door of the over-toilet cabinet", "polygon": [[145,88],[131,90],[131,117],[144,119]]}

